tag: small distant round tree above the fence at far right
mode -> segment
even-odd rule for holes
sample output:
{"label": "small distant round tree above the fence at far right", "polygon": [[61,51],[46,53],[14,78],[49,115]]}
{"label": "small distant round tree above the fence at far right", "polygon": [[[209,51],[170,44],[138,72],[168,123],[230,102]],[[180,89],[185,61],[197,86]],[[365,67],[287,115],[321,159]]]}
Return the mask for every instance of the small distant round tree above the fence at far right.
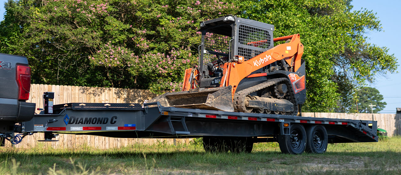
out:
{"label": "small distant round tree above the fence at far right", "polygon": [[377,113],[384,109],[386,102],[383,100],[383,95],[380,94],[379,90],[374,87],[363,87],[358,89],[357,105],[359,113],[371,113],[371,107],[369,105],[376,105],[373,107],[373,113]]}

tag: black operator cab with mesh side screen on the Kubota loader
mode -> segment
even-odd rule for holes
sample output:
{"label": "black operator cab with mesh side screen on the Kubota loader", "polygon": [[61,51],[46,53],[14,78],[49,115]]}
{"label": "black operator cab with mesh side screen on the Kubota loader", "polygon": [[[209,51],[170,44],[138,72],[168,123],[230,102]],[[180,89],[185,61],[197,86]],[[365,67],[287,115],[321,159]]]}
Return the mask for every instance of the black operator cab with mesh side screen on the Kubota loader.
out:
{"label": "black operator cab with mesh side screen on the Kubota loader", "polygon": [[[235,56],[243,56],[245,60],[249,60],[273,48],[274,26],[270,24],[226,15],[203,21],[200,26],[200,87],[219,87],[223,65],[235,61]],[[262,40],[264,42],[258,42]]]}

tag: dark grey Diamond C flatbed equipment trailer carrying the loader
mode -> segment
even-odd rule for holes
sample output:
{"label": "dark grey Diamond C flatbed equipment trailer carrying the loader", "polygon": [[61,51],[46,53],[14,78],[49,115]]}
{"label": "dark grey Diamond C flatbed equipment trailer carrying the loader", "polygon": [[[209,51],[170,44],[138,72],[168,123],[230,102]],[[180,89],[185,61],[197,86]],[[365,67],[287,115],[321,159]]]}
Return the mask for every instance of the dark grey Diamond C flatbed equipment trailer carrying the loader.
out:
{"label": "dark grey Diamond C flatbed equipment trailer carrying the loader", "polygon": [[32,120],[22,122],[20,129],[25,135],[44,132],[43,141],[55,141],[52,139],[58,133],[119,138],[203,137],[205,151],[222,152],[250,152],[253,143],[278,142],[283,153],[324,153],[328,143],[378,141],[377,121],[186,109],[164,107],[159,102],[145,103],[144,107],[138,103],[59,104],[53,106],[53,111],[48,107]]}

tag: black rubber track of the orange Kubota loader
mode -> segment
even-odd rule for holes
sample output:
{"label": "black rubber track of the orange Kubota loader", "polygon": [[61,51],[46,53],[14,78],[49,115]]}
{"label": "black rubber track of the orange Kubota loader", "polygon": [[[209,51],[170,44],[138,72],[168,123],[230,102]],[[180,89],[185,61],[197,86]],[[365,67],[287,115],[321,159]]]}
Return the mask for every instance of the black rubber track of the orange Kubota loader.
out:
{"label": "black rubber track of the orange Kubota loader", "polygon": [[295,99],[295,94],[294,94],[294,89],[292,89],[292,85],[290,83],[290,81],[287,78],[275,78],[275,79],[271,79],[268,80],[267,82],[263,82],[261,84],[258,84],[256,86],[252,86],[252,87],[248,87],[247,89],[243,89],[239,92],[236,92],[234,94],[234,99],[233,99],[233,103],[234,103],[234,109],[236,111],[239,112],[245,112],[245,97],[252,92],[264,89],[266,87],[272,86],[274,84],[277,83],[281,83],[283,82],[284,84],[287,85],[289,91],[291,92],[290,94],[288,94],[289,96],[287,96],[285,99],[287,99],[288,101],[290,101],[291,103],[294,104],[294,111],[292,112],[291,115],[297,115],[298,113],[298,103]]}

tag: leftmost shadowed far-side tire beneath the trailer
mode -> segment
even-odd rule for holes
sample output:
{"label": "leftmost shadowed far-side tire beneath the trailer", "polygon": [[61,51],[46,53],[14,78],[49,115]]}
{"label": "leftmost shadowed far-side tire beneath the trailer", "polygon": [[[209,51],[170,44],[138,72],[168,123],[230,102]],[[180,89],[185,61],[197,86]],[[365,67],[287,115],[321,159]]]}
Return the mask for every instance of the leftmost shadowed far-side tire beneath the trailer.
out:
{"label": "leftmost shadowed far-side tire beneath the trailer", "polygon": [[228,152],[227,139],[219,137],[203,137],[203,149],[206,152]]}

